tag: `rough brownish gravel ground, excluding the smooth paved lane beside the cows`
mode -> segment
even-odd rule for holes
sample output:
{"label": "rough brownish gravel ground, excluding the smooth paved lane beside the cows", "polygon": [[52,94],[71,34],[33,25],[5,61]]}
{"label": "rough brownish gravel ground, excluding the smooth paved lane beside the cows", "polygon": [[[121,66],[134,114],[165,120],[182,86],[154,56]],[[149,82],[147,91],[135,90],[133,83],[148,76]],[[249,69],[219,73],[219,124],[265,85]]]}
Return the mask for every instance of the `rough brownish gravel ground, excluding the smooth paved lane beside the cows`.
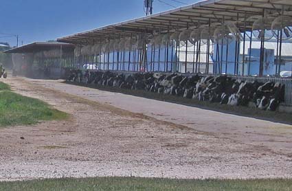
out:
{"label": "rough brownish gravel ground, excluding the smooth paved lane beside the cows", "polygon": [[111,101],[105,104],[54,90],[50,81],[11,78],[7,82],[17,93],[44,100],[71,118],[1,129],[2,181],[97,176],[292,177],[289,155],[265,144],[254,146],[201,131],[201,122],[188,122],[198,129],[166,122],[119,109]]}

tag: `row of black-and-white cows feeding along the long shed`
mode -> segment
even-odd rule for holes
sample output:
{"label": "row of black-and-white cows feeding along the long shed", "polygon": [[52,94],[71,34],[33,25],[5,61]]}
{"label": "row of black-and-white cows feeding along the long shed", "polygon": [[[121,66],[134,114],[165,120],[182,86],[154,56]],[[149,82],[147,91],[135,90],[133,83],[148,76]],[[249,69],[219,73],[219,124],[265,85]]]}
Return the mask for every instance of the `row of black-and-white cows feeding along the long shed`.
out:
{"label": "row of black-and-white cows feeding along the long shed", "polygon": [[284,101],[284,85],[278,82],[247,82],[228,76],[70,70],[69,81],[121,89],[144,90],[232,106],[253,106],[276,111]]}

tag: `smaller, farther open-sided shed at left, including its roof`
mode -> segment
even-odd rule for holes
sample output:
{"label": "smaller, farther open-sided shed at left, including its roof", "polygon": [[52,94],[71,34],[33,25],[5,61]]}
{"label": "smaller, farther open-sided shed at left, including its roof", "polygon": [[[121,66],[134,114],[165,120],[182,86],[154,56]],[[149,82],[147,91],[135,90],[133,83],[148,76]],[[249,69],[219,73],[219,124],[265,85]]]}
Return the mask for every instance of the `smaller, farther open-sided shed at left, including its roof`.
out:
{"label": "smaller, farther open-sided shed at left, including its roof", "polygon": [[12,54],[14,70],[30,77],[60,78],[61,69],[70,67],[74,45],[60,42],[35,42],[5,51]]}

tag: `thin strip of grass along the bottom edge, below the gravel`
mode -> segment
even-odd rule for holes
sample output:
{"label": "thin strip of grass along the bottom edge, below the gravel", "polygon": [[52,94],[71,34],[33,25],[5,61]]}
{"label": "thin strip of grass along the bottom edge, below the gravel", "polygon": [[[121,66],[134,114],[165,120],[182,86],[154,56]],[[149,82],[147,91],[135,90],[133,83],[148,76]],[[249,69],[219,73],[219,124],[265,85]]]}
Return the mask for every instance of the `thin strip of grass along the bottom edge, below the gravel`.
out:
{"label": "thin strip of grass along the bottom edge, below the gravel", "polygon": [[88,179],[45,179],[1,182],[1,190],[196,190],[196,191],[288,191],[289,179],[187,180],[104,177]]}

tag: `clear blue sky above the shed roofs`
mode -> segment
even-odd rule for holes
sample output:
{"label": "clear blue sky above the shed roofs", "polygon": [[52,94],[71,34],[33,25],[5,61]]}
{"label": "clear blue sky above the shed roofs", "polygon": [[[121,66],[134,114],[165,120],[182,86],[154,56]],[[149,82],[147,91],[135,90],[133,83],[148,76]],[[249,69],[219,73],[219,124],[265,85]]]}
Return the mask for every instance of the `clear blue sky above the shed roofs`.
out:
{"label": "clear blue sky above the shed roofs", "polygon": [[[144,16],[144,0],[0,0],[0,41],[20,45],[54,40],[76,32]],[[164,1],[165,3],[162,3]],[[154,0],[154,13],[198,0]]]}

